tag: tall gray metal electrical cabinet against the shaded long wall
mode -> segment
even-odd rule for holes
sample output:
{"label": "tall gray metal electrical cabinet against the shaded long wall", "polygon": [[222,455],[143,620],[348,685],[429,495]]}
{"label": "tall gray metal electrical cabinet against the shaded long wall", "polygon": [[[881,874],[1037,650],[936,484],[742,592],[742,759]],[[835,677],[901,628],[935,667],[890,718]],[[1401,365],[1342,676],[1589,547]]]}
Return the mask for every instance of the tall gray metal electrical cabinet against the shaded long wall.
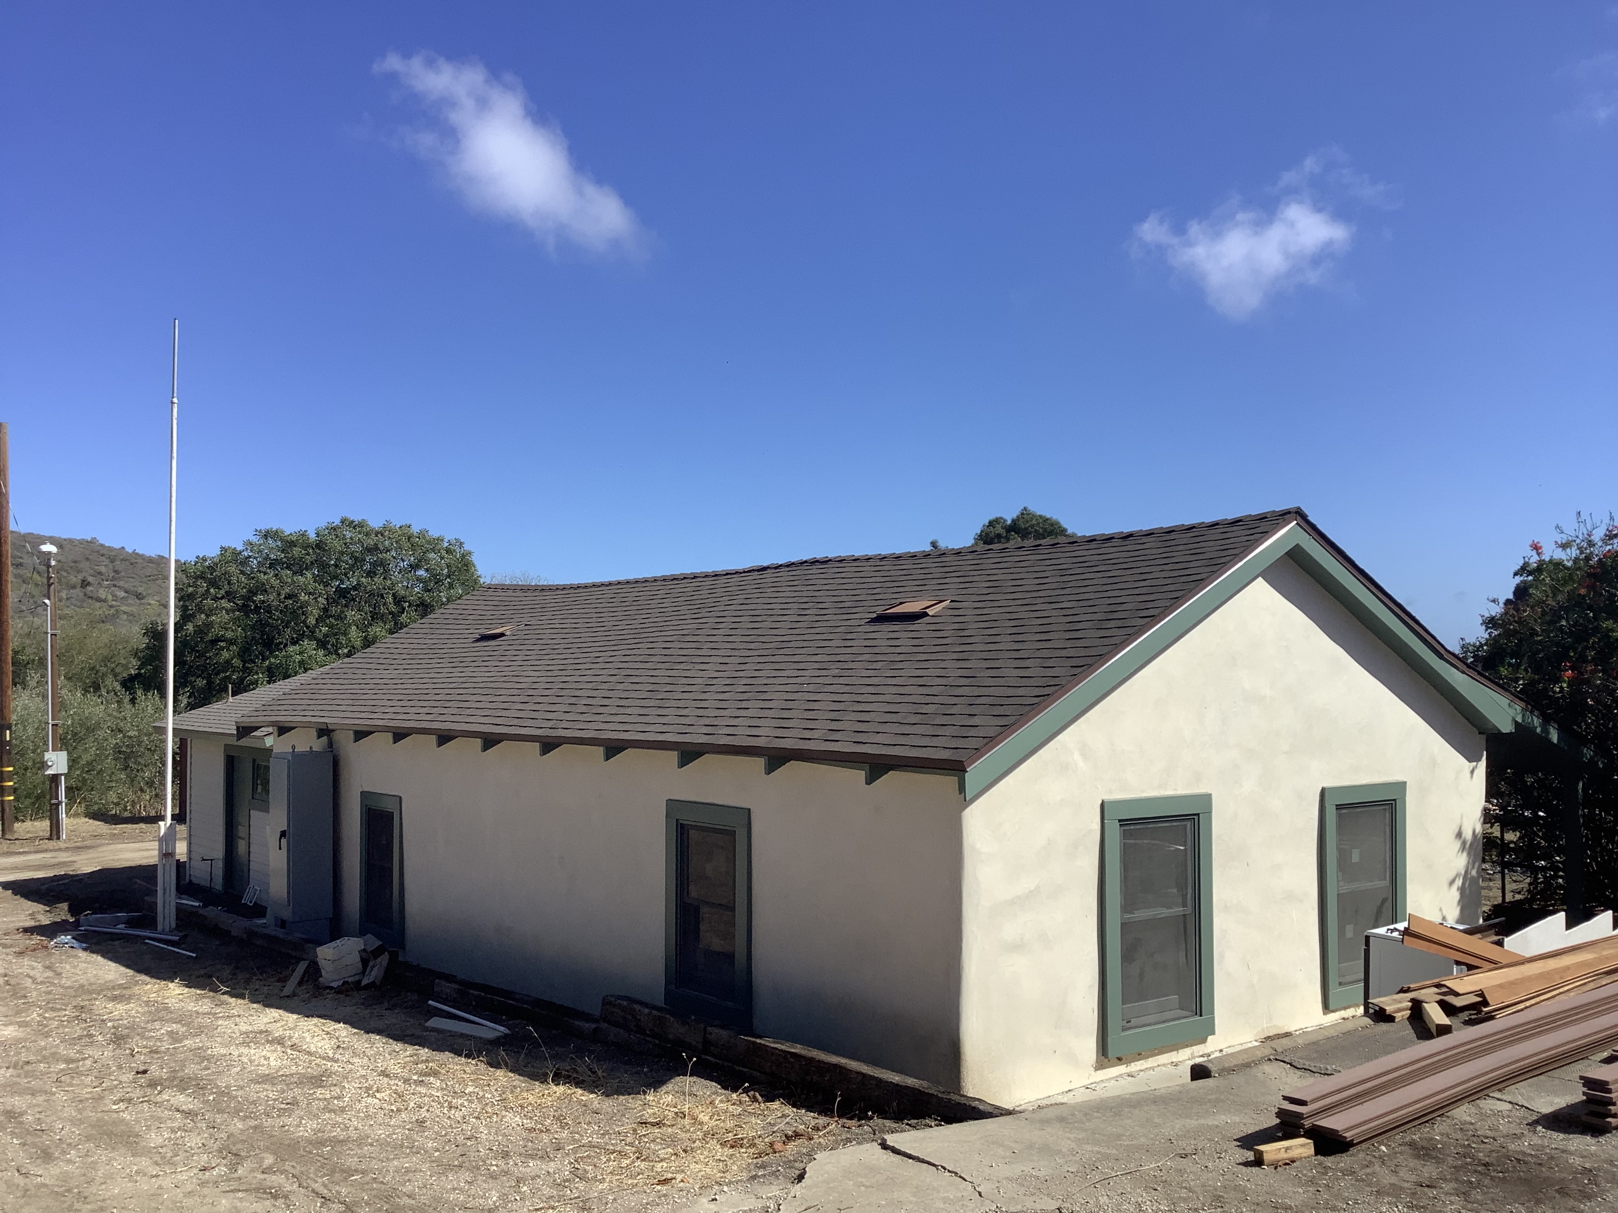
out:
{"label": "tall gray metal electrical cabinet against the shaded long wall", "polygon": [[270,925],[332,940],[330,750],[270,755]]}

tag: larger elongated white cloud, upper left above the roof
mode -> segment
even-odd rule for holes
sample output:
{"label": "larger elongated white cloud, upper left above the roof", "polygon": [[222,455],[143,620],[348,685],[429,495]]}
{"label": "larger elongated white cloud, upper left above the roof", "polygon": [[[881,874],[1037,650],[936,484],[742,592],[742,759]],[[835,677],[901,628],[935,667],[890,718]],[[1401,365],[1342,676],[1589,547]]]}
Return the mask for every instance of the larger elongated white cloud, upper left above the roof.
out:
{"label": "larger elongated white cloud, upper left above the roof", "polygon": [[375,71],[398,76],[437,120],[411,131],[408,142],[443,168],[468,207],[521,223],[552,251],[558,241],[591,252],[639,247],[634,212],[573,163],[568,141],[553,123],[534,118],[519,81],[432,52],[388,53]]}

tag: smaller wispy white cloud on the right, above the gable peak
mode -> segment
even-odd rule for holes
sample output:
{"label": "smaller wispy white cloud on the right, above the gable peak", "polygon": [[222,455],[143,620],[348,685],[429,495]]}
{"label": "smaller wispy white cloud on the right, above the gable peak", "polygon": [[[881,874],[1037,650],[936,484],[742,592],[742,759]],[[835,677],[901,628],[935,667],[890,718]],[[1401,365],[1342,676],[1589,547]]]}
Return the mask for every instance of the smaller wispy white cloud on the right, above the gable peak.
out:
{"label": "smaller wispy white cloud on the right, above the gable peak", "polygon": [[1338,149],[1314,152],[1275,183],[1273,210],[1231,199],[1207,218],[1176,231],[1165,212],[1134,228],[1137,252],[1162,254],[1168,265],[1202,288],[1209,306],[1228,320],[1246,320],[1277,294],[1312,286],[1354,243],[1354,225],[1332,212],[1322,196],[1396,207],[1390,186],[1354,171]]}

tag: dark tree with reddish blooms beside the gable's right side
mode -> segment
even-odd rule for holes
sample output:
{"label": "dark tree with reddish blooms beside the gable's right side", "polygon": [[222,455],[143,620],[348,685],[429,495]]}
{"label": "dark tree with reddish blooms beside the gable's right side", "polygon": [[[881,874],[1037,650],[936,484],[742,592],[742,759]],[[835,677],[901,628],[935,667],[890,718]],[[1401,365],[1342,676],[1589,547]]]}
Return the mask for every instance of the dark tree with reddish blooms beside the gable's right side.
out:
{"label": "dark tree with reddish blooms beside the gable's right side", "polygon": [[[1484,634],[1461,655],[1516,691],[1545,720],[1573,729],[1594,762],[1584,781],[1586,899],[1618,902],[1618,522],[1578,516],[1557,527],[1552,555],[1537,540],[1516,587],[1493,600]],[[1531,904],[1563,894],[1561,781],[1532,770],[1490,770],[1489,799],[1503,826],[1497,859],[1527,880]]]}

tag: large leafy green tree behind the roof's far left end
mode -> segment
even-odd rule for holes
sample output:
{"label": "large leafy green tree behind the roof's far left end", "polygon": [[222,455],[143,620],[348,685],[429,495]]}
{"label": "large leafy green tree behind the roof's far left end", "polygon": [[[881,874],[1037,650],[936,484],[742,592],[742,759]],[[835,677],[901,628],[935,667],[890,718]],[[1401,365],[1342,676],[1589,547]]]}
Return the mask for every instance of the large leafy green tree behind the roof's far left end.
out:
{"label": "large leafy green tree behind the roof's far left end", "polygon": [[[458,539],[345,518],[259,530],[180,566],[175,691],[188,705],[251,691],[358,653],[477,589]],[[129,691],[163,687],[162,621],[146,626]]]}

